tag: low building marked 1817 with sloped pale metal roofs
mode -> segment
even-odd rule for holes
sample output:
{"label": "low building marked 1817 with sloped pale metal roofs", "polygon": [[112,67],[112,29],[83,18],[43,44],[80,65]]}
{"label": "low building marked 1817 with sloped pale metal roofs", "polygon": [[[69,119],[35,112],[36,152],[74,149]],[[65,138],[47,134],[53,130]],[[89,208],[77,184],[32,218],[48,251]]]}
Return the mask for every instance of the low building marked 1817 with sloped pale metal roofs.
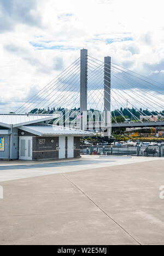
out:
{"label": "low building marked 1817 with sloped pale metal roofs", "polygon": [[57,117],[0,114],[0,160],[80,157],[80,137],[93,133],[48,124]]}

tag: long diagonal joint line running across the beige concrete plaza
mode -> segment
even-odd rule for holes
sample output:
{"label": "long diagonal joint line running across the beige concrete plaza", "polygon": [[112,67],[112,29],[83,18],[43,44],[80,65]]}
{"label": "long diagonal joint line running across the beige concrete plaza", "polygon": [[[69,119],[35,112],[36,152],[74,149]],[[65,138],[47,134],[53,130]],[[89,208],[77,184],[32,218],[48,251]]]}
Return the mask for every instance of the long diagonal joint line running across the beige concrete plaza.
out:
{"label": "long diagonal joint line running across the beige concrete plaza", "polygon": [[81,190],[77,185],[75,185],[69,178],[67,178],[64,174],[61,174],[63,177],[65,177],[67,179],[67,181],[71,182],[77,189],[79,189],[81,191],[81,193],[83,193],[87,199],[89,199],[95,206],[97,206],[99,208],[99,210],[101,210],[110,220],[112,220],[116,225],[118,225],[122,230],[124,230],[124,232],[126,232],[127,235],[129,235],[134,241],[136,241],[138,243],[138,245],[142,245],[139,241],[136,240],[136,238],[134,238],[128,231],[126,231],[118,222],[116,222],[116,220],[114,220],[112,217],[109,216],[109,214],[107,212],[105,212],[100,206],[97,205],[97,203],[95,203],[89,196],[87,196],[83,190]]}

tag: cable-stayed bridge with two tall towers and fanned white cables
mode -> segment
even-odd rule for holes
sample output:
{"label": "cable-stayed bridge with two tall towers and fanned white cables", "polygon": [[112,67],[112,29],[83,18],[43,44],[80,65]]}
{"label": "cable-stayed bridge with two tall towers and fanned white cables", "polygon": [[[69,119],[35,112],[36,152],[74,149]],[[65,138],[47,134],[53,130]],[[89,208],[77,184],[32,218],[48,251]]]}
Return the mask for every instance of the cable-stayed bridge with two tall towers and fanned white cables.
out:
{"label": "cable-stayed bridge with two tall towers and fanned white cables", "polygon": [[55,123],[81,130],[164,126],[164,85],[81,50],[60,75],[16,113],[59,114]]}

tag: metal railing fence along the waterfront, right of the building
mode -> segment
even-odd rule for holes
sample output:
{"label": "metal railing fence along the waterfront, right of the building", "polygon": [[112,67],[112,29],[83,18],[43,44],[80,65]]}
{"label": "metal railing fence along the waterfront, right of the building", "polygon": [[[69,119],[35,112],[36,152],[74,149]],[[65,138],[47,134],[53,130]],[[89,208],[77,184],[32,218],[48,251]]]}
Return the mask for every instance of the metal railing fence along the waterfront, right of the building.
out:
{"label": "metal railing fence along the waterfront, right of the building", "polygon": [[109,147],[81,146],[83,155],[132,155],[164,157],[164,147]]}

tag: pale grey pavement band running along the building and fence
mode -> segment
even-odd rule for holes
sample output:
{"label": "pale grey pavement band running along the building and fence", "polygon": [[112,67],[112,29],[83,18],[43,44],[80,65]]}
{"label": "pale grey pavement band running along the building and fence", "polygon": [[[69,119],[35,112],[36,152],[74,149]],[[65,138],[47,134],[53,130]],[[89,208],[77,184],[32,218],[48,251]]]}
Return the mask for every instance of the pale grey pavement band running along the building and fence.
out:
{"label": "pale grey pavement band running along the building and fence", "polygon": [[14,179],[37,177],[49,174],[77,172],[92,168],[135,164],[137,162],[164,160],[164,158],[146,158],[137,156],[91,156],[80,159],[57,161],[12,161],[0,162],[0,182]]}

